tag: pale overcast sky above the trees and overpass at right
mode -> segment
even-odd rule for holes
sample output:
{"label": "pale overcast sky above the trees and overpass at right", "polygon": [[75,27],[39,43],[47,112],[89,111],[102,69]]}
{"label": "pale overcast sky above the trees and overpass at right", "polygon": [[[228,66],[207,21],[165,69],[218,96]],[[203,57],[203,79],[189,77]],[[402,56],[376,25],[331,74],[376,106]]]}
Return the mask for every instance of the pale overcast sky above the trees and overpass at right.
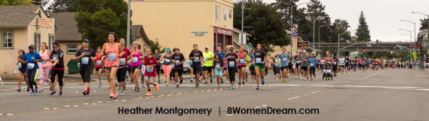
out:
{"label": "pale overcast sky above the trees and overpass at right", "polygon": [[[274,3],[276,0],[263,0],[263,2]],[[301,0],[297,4],[306,2],[309,0]],[[400,20],[415,22],[418,33],[419,19],[427,17],[421,14],[411,14],[411,12],[429,14],[428,0],[320,0],[320,2],[326,6],[325,12],[331,17],[332,22],[335,19],[347,20],[353,30],[357,28],[360,11],[363,11],[373,41],[376,39],[381,41],[409,41],[409,36],[401,34],[410,33],[399,29],[412,31],[414,37],[414,24]],[[299,6],[299,8],[302,7],[306,6]]]}

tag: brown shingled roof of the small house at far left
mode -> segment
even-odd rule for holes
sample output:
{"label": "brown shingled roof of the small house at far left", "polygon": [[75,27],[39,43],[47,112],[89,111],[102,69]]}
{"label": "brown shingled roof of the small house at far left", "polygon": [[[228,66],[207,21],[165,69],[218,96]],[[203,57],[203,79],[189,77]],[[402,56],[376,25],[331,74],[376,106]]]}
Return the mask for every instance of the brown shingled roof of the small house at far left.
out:
{"label": "brown shingled roof of the small house at far left", "polygon": [[37,16],[40,6],[0,6],[0,27],[25,28]]}

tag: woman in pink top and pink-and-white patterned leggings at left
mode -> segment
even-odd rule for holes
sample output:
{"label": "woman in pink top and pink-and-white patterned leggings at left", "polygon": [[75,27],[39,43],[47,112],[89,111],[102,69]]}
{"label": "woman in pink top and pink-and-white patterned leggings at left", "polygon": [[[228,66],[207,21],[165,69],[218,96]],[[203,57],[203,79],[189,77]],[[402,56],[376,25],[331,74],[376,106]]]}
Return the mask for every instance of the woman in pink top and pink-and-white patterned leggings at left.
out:
{"label": "woman in pink top and pink-and-white patterned leggings at left", "polygon": [[[46,46],[45,42],[42,42],[40,44],[40,48],[42,50],[39,51],[39,55],[42,57],[43,62],[40,63],[39,66],[39,84],[40,84],[40,93],[43,93],[43,85],[49,84],[49,90],[52,91],[52,85],[49,80],[49,73],[50,73],[50,66],[51,63],[49,62],[49,55],[50,51]],[[48,83],[47,83],[48,82]]]}

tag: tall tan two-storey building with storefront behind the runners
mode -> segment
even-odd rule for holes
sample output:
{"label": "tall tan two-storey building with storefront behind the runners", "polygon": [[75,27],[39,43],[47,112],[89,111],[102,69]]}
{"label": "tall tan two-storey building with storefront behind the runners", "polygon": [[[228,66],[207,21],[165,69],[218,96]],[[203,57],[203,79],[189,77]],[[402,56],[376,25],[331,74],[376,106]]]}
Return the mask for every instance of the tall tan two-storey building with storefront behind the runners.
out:
{"label": "tall tan two-storey building with storefront behind the runners", "polygon": [[144,26],[148,38],[164,47],[178,47],[186,57],[193,44],[213,52],[233,44],[233,8],[232,0],[132,1],[131,20]]}

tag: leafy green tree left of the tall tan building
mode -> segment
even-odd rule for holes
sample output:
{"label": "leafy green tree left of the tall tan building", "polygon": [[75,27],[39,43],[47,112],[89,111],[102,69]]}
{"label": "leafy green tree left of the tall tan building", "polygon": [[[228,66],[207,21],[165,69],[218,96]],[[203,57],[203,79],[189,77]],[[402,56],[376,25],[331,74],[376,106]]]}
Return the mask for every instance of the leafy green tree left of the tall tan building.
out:
{"label": "leafy green tree left of the tall tan building", "polygon": [[75,21],[78,31],[82,34],[82,39],[91,41],[91,48],[103,45],[109,32],[115,32],[118,39],[126,38],[127,3],[121,0],[78,0],[77,3],[78,15],[75,16]]}

